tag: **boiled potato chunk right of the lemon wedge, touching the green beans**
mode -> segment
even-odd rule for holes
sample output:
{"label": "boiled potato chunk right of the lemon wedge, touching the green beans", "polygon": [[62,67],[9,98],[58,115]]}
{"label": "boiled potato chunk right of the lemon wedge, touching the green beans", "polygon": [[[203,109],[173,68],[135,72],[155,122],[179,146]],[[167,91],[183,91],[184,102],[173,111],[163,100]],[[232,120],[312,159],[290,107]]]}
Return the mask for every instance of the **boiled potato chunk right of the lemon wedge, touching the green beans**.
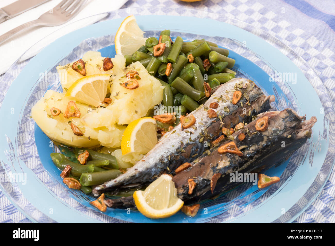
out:
{"label": "boiled potato chunk right of the lemon wedge, touching the green beans", "polygon": [[[121,85],[129,80],[125,75],[131,70],[136,70],[141,78],[138,80],[139,87],[134,90]],[[163,100],[163,88],[140,62],[133,63],[112,79],[110,87],[112,103],[106,108],[85,115],[82,122],[90,128],[130,124],[135,119],[145,116],[149,109]]]}

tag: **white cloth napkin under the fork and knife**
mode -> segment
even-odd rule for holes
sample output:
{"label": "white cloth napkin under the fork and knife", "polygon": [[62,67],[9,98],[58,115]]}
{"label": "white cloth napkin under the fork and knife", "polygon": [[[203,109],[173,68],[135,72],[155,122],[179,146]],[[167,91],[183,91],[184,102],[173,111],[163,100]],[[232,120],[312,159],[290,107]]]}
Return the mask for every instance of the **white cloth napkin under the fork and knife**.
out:
{"label": "white cloth napkin under the fork and knife", "polygon": [[[0,1],[0,8],[14,1],[15,0],[2,0]],[[26,52],[20,60],[24,61],[32,56],[35,56],[48,44],[52,43],[57,38],[71,31],[97,22],[98,20],[107,16],[106,12],[119,9],[127,1],[128,0],[87,0],[85,6],[83,6],[80,12],[73,19],[63,25],[33,27],[28,29],[27,31],[22,31],[16,34],[15,36],[11,37],[9,40],[0,45],[0,75],[6,72],[8,68],[25,51],[27,51],[42,38],[46,37],[43,42],[39,42],[39,44],[32,47],[29,52]],[[13,17],[12,19],[0,23],[0,35],[23,23],[37,19],[38,17],[40,17],[40,15],[47,11],[50,11],[60,2],[61,0],[50,0],[36,8],[30,9],[18,16]],[[80,22],[80,25],[78,25],[77,23],[73,23],[83,18],[85,19]]]}

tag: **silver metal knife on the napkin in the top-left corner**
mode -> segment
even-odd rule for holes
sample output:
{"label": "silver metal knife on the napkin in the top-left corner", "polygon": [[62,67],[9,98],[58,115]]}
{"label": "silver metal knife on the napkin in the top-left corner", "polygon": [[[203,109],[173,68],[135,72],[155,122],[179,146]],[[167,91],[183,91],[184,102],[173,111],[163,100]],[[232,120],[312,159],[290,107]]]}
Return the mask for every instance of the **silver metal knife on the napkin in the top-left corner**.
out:
{"label": "silver metal knife on the napkin in the top-left corner", "polygon": [[18,0],[0,9],[0,23],[49,0]]}

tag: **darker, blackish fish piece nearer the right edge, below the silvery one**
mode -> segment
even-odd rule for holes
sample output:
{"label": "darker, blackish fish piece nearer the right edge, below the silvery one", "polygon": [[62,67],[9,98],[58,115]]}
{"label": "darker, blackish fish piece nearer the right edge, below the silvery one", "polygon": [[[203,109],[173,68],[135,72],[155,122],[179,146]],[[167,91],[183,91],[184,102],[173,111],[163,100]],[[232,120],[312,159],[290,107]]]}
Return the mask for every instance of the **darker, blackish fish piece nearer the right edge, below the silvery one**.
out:
{"label": "darker, blackish fish piece nearer the right edge, below the silvery one", "polygon": [[[230,173],[258,173],[264,172],[272,166],[279,165],[287,160],[293,152],[304,145],[307,138],[311,136],[311,128],[316,118],[304,122],[292,109],[283,111],[265,112],[260,116],[269,117],[269,126],[265,132],[255,130],[255,122],[251,122],[244,129],[232,134],[237,147],[246,146],[242,149],[243,156],[236,154],[219,154],[217,149],[210,149],[210,154],[204,154],[191,163],[187,170],[176,174],[173,177],[178,197],[185,205],[205,200],[222,192],[228,191],[241,182],[230,182]],[[259,117],[260,117],[259,116]],[[249,130],[250,136],[246,133]],[[245,133],[243,141],[237,136]],[[226,140],[221,145],[230,142]],[[282,147],[282,144],[285,147]],[[211,179],[214,174],[220,173],[216,186],[211,192]],[[188,179],[194,179],[196,186],[191,194],[188,194]]]}

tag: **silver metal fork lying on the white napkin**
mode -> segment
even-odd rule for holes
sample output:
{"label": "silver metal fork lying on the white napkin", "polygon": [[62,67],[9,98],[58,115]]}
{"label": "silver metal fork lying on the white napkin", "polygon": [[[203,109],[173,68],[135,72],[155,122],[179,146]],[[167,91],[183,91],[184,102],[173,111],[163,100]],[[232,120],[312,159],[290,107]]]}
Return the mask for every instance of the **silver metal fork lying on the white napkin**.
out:
{"label": "silver metal fork lying on the white napkin", "polygon": [[52,10],[42,14],[38,19],[24,23],[0,36],[0,44],[16,33],[33,26],[57,26],[72,19],[86,0],[63,0]]}

